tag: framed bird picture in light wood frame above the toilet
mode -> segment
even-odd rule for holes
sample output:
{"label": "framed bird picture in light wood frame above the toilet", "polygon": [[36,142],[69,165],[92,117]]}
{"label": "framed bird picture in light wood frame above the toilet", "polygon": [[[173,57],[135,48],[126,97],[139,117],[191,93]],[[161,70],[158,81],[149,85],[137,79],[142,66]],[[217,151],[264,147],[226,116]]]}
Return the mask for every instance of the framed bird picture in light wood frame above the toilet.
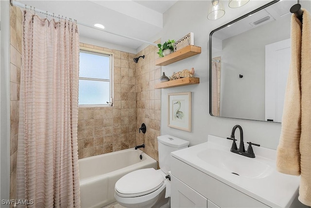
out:
{"label": "framed bird picture in light wood frame above the toilet", "polygon": [[191,92],[168,96],[168,126],[191,132]]}

